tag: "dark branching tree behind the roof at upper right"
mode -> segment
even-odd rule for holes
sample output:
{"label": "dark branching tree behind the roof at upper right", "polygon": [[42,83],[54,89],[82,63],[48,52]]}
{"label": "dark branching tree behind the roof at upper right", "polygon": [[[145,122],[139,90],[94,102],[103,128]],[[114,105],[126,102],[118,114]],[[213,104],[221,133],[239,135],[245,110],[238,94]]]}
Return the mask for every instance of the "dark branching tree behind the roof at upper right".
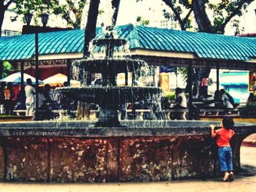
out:
{"label": "dark branching tree behind the roof at upper right", "polygon": [[[143,1],[143,0],[137,0]],[[224,34],[227,23],[233,22],[233,26],[236,28],[236,34],[239,31],[239,22],[234,18],[236,16],[243,15],[246,8],[254,0],[223,0],[223,1],[211,1],[211,0],[162,0],[165,4],[172,9],[173,13],[164,12],[165,17],[171,15],[178,20],[181,30],[187,28],[187,22],[189,21],[189,15],[194,13],[195,20],[197,22],[198,31],[214,34]],[[186,13],[184,19],[182,15]],[[211,20],[209,19],[208,12],[210,10],[213,14]],[[211,69],[197,68],[194,69],[192,74],[193,82],[197,90],[200,88],[200,82],[202,78],[208,77]]]}

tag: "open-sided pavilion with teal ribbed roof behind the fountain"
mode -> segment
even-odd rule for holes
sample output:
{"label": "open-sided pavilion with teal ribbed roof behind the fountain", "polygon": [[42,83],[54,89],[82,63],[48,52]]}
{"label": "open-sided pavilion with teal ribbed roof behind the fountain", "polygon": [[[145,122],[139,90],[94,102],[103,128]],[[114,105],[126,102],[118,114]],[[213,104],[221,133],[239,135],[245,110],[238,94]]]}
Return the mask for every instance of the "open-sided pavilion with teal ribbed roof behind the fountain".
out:
{"label": "open-sided pavilion with teal ribbed roof behind the fountain", "polygon": [[[132,24],[116,26],[115,30],[119,38],[129,42],[133,58],[140,58],[153,66],[188,67],[189,98],[192,98],[193,67],[214,68],[217,69],[217,74],[219,69],[256,71],[255,38],[227,37],[222,34],[176,31]],[[97,28],[97,38],[103,36],[102,28]],[[83,42],[83,29],[40,33],[38,59],[42,73],[37,78],[45,79],[54,71],[70,74],[72,61],[83,58]],[[0,37],[0,50],[0,62],[10,61],[21,72],[25,67],[34,73],[34,34]],[[190,108],[192,99],[189,101]]]}

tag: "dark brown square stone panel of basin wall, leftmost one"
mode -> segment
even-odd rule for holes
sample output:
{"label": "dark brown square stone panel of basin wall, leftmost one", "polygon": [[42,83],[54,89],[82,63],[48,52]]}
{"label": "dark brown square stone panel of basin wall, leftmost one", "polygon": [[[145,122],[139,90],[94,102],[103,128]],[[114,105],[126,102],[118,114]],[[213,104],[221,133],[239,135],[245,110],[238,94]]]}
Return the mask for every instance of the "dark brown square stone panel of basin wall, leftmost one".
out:
{"label": "dark brown square stone panel of basin wall, leftmost one", "polygon": [[46,182],[48,139],[7,138],[7,178],[10,181]]}

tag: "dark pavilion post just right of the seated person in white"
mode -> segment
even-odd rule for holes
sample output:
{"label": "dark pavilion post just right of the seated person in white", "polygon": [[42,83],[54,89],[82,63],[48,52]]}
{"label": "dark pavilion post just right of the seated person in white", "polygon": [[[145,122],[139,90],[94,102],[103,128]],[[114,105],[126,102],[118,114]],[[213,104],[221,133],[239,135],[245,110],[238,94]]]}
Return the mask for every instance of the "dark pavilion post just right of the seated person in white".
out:
{"label": "dark pavilion post just right of the seated person in white", "polygon": [[189,92],[189,120],[192,120],[192,61],[189,61],[187,68],[187,84]]}

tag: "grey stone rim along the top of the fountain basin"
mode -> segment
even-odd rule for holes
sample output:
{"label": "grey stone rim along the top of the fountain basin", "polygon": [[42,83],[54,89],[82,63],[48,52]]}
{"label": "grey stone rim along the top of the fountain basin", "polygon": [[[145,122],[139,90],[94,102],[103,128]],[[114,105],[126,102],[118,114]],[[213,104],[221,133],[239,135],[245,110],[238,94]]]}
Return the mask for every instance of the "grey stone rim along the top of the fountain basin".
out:
{"label": "grey stone rim along the top of the fountain basin", "polygon": [[[0,137],[151,137],[151,136],[210,136],[210,124],[216,122],[207,122],[201,125],[195,125],[195,121],[174,121],[155,123],[148,121],[153,126],[143,127],[141,121],[130,121],[121,123],[123,127],[94,127],[95,122],[44,122],[44,123],[1,123]],[[129,127],[126,127],[129,124]],[[188,126],[191,124],[191,126]],[[244,128],[246,126],[246,128]],[[255,130],[253,123],[236,123],[234,131],[236,134],[249,134]]]}

